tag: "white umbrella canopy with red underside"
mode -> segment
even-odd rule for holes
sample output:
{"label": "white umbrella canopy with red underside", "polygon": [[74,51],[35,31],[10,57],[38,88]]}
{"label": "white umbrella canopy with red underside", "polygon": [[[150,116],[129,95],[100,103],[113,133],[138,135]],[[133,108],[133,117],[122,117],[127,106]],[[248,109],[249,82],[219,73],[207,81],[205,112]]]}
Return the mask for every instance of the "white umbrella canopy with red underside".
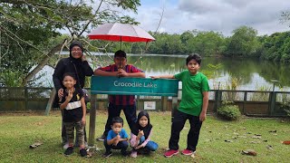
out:
{"label": "white umbrella canopy with red underside", "polygon": [[102,24],[88,34],[91,40],[113,42],[150,42],[155,39],[139,26],[132,24]]}

